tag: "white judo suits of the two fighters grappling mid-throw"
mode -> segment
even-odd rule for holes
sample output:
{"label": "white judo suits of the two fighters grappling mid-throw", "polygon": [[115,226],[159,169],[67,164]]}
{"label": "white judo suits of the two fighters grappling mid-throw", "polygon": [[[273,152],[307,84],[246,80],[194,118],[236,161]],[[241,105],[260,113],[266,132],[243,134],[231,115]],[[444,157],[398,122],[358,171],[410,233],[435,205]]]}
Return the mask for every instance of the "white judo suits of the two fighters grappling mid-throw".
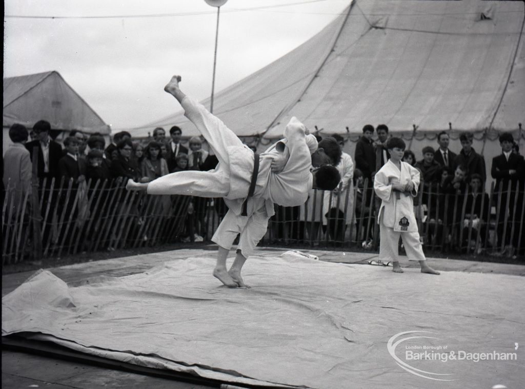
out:
{"label": "white judo suits of the two fighters grappling mid-throw", "polygon": [[[304,125],[292,118],[285,139],[260,154],[255,193],[248,199],[248,216],[241,216],[254,169],[254,152],[197,100],[186,96],[181,105],[219,163],[208,172],[184,171],[157,178],[148,184],[148,193],[223,197],[229,210],[212,241],[229,250],[240,233],[238,249],[248,257],[266,234],[268,219],[274,215],[274,203],[297,206],[306,202],[313,181],[311,153],[317,150],[317,140],[305,134]],[[271,171],[275,154],[288,159],[279,173]]]}

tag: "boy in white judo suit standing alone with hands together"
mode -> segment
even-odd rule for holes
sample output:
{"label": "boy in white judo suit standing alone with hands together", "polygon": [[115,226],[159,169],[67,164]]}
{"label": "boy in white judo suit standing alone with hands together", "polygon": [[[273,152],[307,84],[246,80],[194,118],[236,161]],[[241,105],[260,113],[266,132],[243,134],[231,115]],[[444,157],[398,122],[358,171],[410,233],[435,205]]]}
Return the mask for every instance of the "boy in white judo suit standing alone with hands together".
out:
{"label": "boy in white judo suit standing alone with hands together", "polygon": [[377,217],[381,237],[379,258],[384,263],[392,261],[394,272],[403,272],[398,257],[401,235],[408,258],[419,261],[421,272],[439,274],[427,265],[417,232],[412,198],[417,195],[419,171],[401,161],[405,150],[405,142],[401,138],[389,139],[387,149],[390,152],[390,160],[381,167],[374,178],[375,194],[382,200]]}

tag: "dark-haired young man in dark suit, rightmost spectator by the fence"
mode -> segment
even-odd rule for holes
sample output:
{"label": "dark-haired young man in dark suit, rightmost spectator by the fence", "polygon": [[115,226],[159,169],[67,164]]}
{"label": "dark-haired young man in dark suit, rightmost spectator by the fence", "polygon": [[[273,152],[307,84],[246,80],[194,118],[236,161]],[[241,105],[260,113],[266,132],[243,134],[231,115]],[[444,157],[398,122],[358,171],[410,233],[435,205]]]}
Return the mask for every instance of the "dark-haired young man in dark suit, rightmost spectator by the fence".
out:
{"label": "dark-haired young man in dark suit, rightmost spectator by the fence", "polygon": [[[498,156],[493,157],[492,167],[490,169],[490,174],[492,178],[496,178],[496,187],[494,189],[496,193],[496,207],[498,205],[498,195],[500,197],[500,207],[499,209],[496,209],[496,214],[498,215],[498,247],[501,247],[501,249],[503,249],[505,245],[509,245],[511,243],[510,235],[513,220],[516,220],[516,223],[514,223],[514,236],[512,237],[512,243],[514,244],[514,246],[517,246],[518,243],[518,218],[520,216],[521,209],[519,209],[519,211],[517,210],[518,212],[516,212],[516,215],[514,215],[514,205],[517,204],[516,200],[519,197],[517,196],[518,180],[523,176],[525,172],[522,171],[523,157],[512,152],[513,142],[514,139],[512,138],[512,135],[508,132],[502,133],[499,136],[499,143],[501,145],[502,153]],[[507,203],[508,198],[510,199],[510,201]],[[505,241],[503,241],[503,230],[505,229],[506,215],[508,215],[508,224],[505,234]],[[512,250],[512,248],[510,248],[510,250]]]}

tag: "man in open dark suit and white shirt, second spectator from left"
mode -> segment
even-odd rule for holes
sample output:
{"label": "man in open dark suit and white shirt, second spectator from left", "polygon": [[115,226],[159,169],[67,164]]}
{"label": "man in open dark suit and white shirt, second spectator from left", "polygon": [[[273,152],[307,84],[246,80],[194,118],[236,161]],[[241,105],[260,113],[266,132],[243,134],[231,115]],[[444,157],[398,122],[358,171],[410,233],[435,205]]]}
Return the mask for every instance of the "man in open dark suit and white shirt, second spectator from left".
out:
{"label": "man in open dark suit and white shirt, second spectator from left", "polygon": [[38,170],[37,176],[40,180],[47,177],[48,181],[53,177],[58,177],[58,161],[62,157],[62,147],[59,143],[49,138],[51,124],[45,120],[39,120],[33,126],[37,140],[26,143],[29,150],[31,161],[33,161],[33,149],[38,147]]}

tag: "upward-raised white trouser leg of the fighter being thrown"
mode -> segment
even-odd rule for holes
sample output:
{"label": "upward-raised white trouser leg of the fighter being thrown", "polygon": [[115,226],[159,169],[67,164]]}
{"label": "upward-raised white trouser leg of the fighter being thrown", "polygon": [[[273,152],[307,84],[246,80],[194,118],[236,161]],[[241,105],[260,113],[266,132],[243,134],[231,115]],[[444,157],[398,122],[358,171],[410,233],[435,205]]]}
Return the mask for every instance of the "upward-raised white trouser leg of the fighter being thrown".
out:
{"label": "upward-raised white trouser leg of the fighter being thrown", "polygon": [[228,147],[243,146],[239,137],[197,100],[186,96],[181,105],[186,118],[202,133],[219,163],[229,164]]}

